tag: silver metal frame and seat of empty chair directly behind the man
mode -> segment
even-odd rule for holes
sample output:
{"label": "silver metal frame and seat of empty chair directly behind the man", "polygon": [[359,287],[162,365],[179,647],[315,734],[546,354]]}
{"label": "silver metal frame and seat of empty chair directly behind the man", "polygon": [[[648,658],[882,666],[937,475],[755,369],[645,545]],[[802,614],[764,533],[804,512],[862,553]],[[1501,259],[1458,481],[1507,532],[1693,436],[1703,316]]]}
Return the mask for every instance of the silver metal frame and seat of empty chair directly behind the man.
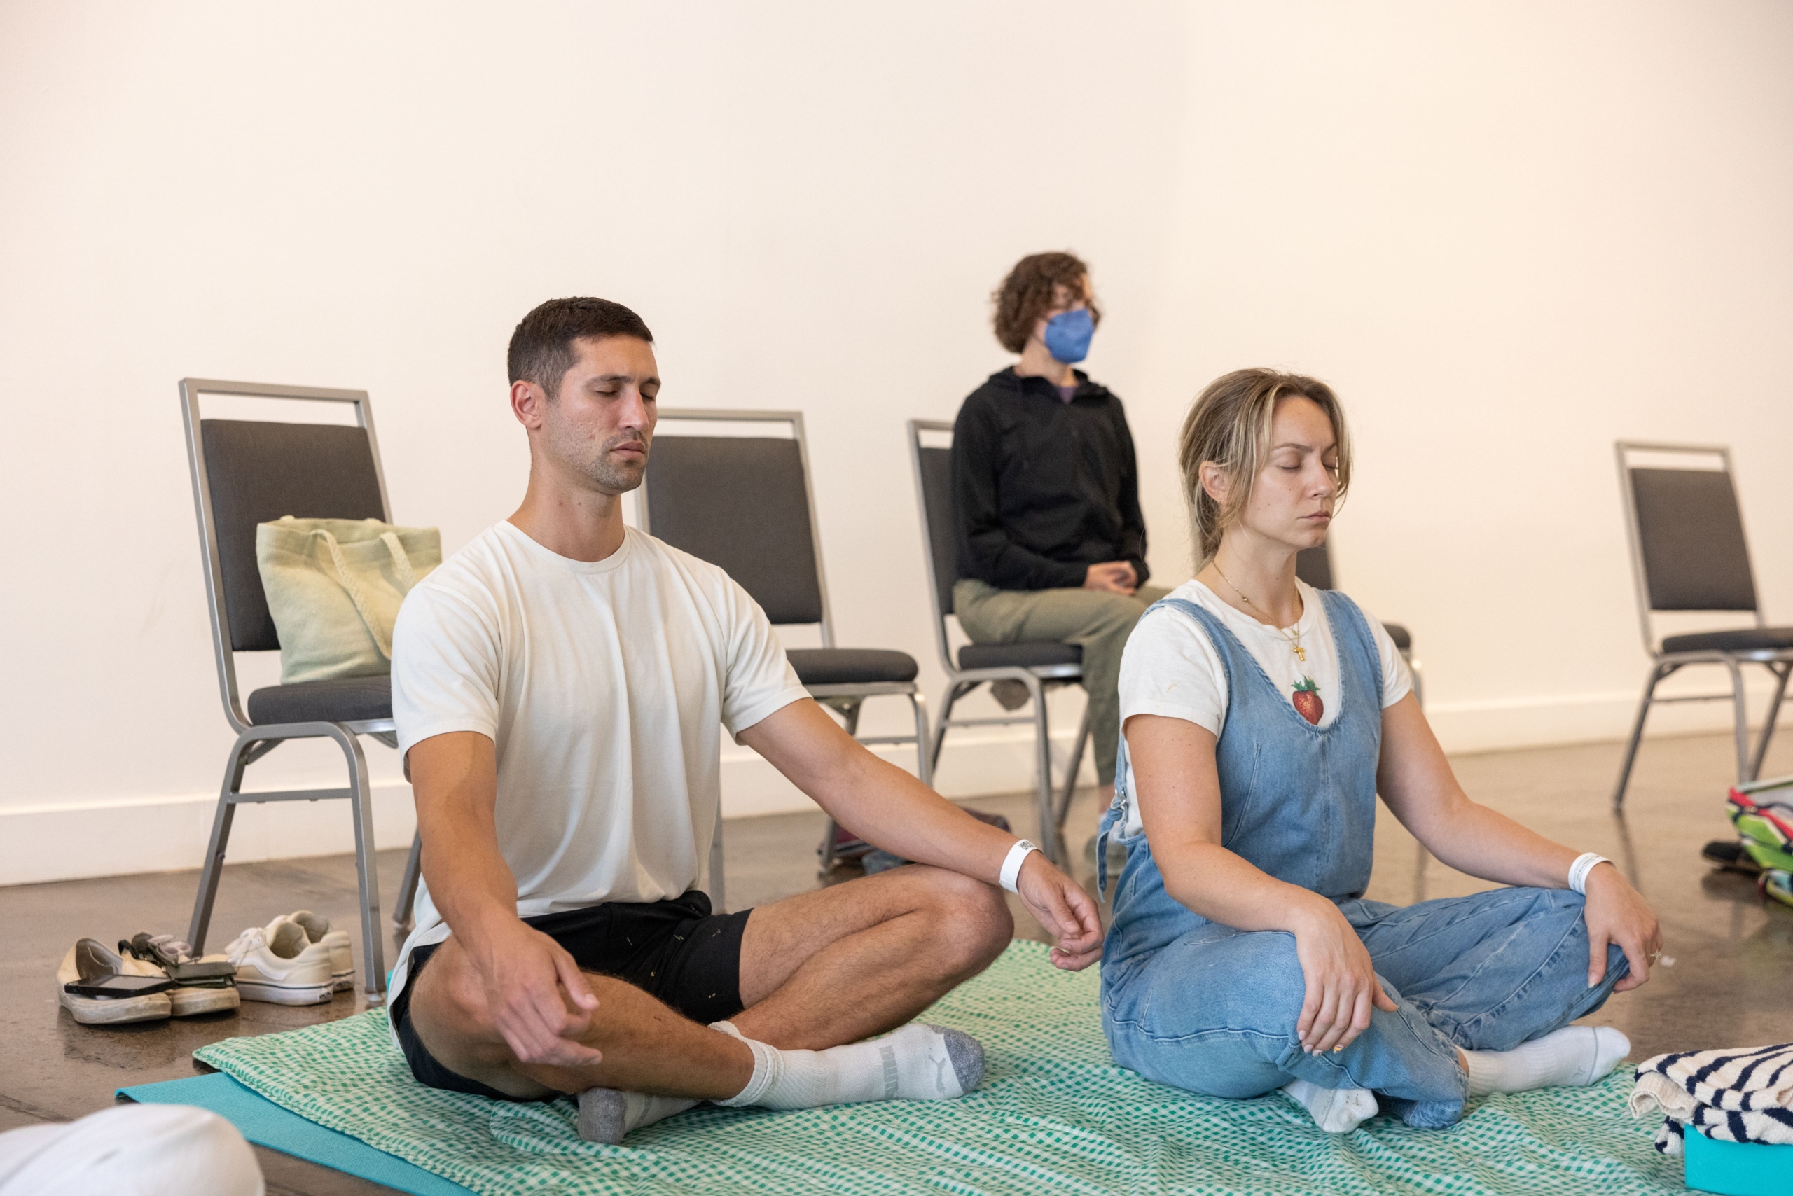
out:
{"label": "silver metal frame and seat of empty chair directly behind the man", "polygon": [[[780,438],[748,438],[748,436],[699,436],[699,438],[692,438],[692,436],[685,436],[685,434],[669,434],[665,430],[665,425],[672,423],[672,421],[784,425],[784,427],[787,427],[791,430],[791,434],[787,438],[785,436],[780,436]],[[791,595],[789,594],[773,595],[769,592],[766,592],[766,594],[755,592],[757,588],[764,590],[764,585],[757,577],[753,577],[751,568],[744,568],[744,567],[739,568],[739,570],[737,568],[730,568],[730,574],[735,577],[735,581],[742,583],[742,586],[748,590],[748,594],[751,594],[753,599],[757,602],[760,602],[760,606],[767,608],[767,613],[775,615],[773,622],[776,626],[812,626],[812,624],[819,624],[819,628],[821,628],[821,647],[819,649],[816,649],[816,647],[809,647],[809,649],[796,647],[796,649],[789,649],[787,651],[787,656],[791,658],[791,663],[796,669],[798,678],[803,681],[803,689],[807,689],[809,694],[816,701],[819,701],[823,706],[834,710],[841,717],[841,721],[845,723],[846,733],[852,735],[853,739],[857,739],[859,742],[868,744],[868,746],[873,746],[873,744],[914,744],[916,775],[922,778],[923,785],[932,784],[932,764],[934,762],[932,762],[932,757],[929,755],[927,699],[922,696],[920,687],[913,680],[916,676],[914,658],[907,656],[905,653],[895,653],[895,651],[884,651],[884,649],[843,649],[843,647],[837,647],[836,642],[834,642],[834,615],[832,615],[832,606],[828,604],[828,581],[827,581],[827,574],[823,572],[823,565],[821,565],[821,529],[819,529],[819,524],[816,520],[816,488],[814,488],[814,484],[810,481],[809,441],[803,436],[803,412],[800,412],[800,411],[714,411],[714,409],[697,409],[697,407],[662,407],[660,409],[660,416],[658,416],[658,423],[660,423],[660,432],[654,438],[654,452],[649,455],[647,482],[640,490],[635,491],[635,495],[637,495],[637,513],[638,513],[640,527],[642,527],[642,531],[645,531],[649,534],[662,534],[662,531],[665,531],[663,525],[662,525],[662,529],[656,531],[656,525],[654,525],[654,520],[653,520],[651,493],[654,490],[654,459],[658,459],[662,463],[660,464],[660,470],[662,470],[660,477],[665,477],[665,468],[667,468],[665,461],[667,461],[667,454],[672,452],[671,450],[672,443],[676,443],[676,441],[689,441],[689,439],[703,439],[703,441],[706,441],[706,445],[724,445],[728,441],[751,443],[751,441],[757,441],[757,439],[791,439],[791,441],[796,441],[798,464],[800,464],[801,482],[803,482],[803,504],[801,504],[801,515],[798,515],[796,511],[789,511],[789,513],[785,513],[785,522],[789,524],[793,520],[807,516],[807,522],[809,522],[809,529],[807,529],[809,550],[810,550],[810,556],[814,559],[814,592],[812,594],[803,594],[801,599],[796,604],[791,604]],[[667,540],[667,543],[671,543],[674,547],[680,547],[680,549],[694,552],[694,556],[705,556],[705,552],[696,550],[694,545],[690,545],[690,543],[680,543],[680,540],[683,540],[685,536],[681,536],[678,533],[674,533],[674,534],[663,534],[662,538]],[[714,556],[728,556],[728,550],[723,549],[721,545],[714,545],[714,547],[717,547],[721,550],[712,550],[710,556],[706,556],[705,559],[710,559]],[[728,567],[726,561],[715,561],[715,563]],[[801,613],[803,615],[803,622],[798,622],[798,620],[782,620],[780,615],[785,615],[785,613]],[[807,619],[809,613],[816,613],[818,617],[814,620],[809,620]],[[879,665],[882,665],[882,667],[879,667]],[[907,680],[907,681],[877,680],[879,676],[886,676],[888,678],[888,676],[902,674],[902,672],[907,672],[911,680]],[[834,678],[834,680],[818,680],[818,678]],[[866,703],[868,698],[905,698],[909,701],[911,714],[914,715],[914,735],[861,735],[859,733],[859,714],[861,714],[861,708],[864,706],[864,703]],[[836,830],[837,830],[837,827],[836,827],[834,819],[830,818],[828,819],[828,828],[827,828],[827,832],[823,836],[823,841],[821,841],[821,875],[825,875],[825,877],[828,875],[828,871],[834,866]],[[715,843],[712,846],[712,875],[714,877],[721,877],[721,852],[723,852],[723,823],[721,823],[721,819],[717,819]],[[717,880],[717,884],[721,884],[721,882]],[[719,893],[712,893],[712,898],[715,898],[717,907],[721,907],[721,897],[719,897]]]}

